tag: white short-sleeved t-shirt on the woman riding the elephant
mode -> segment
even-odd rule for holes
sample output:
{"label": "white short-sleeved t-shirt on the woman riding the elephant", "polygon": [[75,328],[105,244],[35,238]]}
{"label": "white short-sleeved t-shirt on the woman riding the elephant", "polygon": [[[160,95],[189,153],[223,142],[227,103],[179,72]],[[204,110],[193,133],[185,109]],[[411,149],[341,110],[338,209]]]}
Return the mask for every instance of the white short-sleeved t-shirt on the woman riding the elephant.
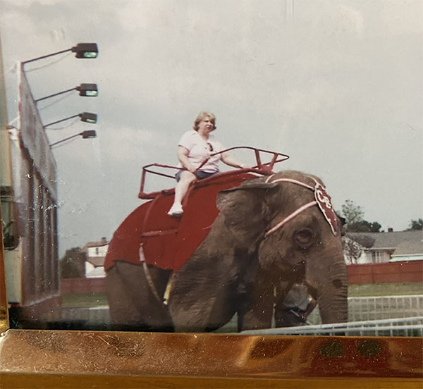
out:
{"label": "white short-sleeved t-shirt on the woman riding the elephant", "polygon": [[[195,168],[198,168],[198,166],[200,166],[204,159],[207,159],[210,154],[221,152],[223,150],[221,142],[216,140],[213,135],[209,135],[209,139],[206,141],[195,130],[185,132],[185,134],[183,134],[180,138],[178,145],[188,149],[188,159]],[[221,154],[212,156],[200,170],[207,173],[216,173],[216,171],[219,171],[220,159]],[[179,163],[179,167],[182,167],[181,163]]]}

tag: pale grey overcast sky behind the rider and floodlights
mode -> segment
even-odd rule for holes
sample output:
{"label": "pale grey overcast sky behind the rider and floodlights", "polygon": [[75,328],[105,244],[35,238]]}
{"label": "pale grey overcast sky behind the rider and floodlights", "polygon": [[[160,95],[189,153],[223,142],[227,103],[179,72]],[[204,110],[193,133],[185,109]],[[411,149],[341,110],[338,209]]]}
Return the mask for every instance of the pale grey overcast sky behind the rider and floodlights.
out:
{"label": "pale grey overcast sky behind the rider and floodlights", "polygon": [[97,99],[39,103],[44,124],[99,116],[47,132],[51,142],[98,135],[54,149],[61,254],[111,238],[142,204],[142,166],[176,164],[202,110],[216,114],[226,147],[288,154],[278,169],[319,175],[336,209],[351,199],[366,220],[404,230],[423,217],[422,30],[421,0],[0,0],[10,121],[18,61],[99,46],[95,60],[26,66],[35,99],[99,86]]}

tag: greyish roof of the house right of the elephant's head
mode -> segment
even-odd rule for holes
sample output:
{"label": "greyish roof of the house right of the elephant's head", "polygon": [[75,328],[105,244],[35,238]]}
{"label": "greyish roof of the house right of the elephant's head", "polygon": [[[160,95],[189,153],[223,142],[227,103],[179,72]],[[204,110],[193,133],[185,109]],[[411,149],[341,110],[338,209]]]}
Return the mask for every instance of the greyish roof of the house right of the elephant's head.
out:
{"label": "greyish roof of the house right of the elephant's head", "polygon": [[[391,249],[397,247],[401,254],[420,254],[423,252],[423,230],[395,231],[392,233],[347,233],[354,238],[367,236],[374,239],[370,250]],[[395,254],[399,254],[395,252]]]}

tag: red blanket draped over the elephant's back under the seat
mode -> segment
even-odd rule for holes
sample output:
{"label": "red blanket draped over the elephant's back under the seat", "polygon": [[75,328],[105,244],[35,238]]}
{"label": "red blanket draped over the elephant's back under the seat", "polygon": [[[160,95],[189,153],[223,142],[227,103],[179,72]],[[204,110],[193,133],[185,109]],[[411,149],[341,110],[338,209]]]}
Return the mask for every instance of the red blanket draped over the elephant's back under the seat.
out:
{"label": "red blanket draped over the elephant's back under the seat", "polygon": [[204,240],[219,214],[218,193],[256,176],[245,171],[230,171],[196,181],[187,193],[181,218],[167,215],[173,204],[174,190],[161,192],[135,209],[115,231],[106,254],[105,270],[115,261],[138,265],[145,261],[178,271]]}

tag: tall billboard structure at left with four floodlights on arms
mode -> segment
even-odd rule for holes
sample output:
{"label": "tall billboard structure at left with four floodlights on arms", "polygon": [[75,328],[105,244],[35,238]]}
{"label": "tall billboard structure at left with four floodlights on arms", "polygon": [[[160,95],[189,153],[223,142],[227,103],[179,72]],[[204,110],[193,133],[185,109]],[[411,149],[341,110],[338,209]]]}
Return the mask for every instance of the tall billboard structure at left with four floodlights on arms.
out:
{"label": "tall billboard structure at left with four floodlights on arms", "polygon": [[[20,314],[23,316],[28,315],[27,317],[31,315],[31,317],[37,318],[39,314],[45,311],[46,307],[60,305],[61,294],[56,159],[50,149],[51,145],[46,134],[47,129],[42,123],[37,102],[32,96],[25,68],[28,63],[56,56],[66,51],[75,53],[76,58],[97,58],[99,53],[95,43],[78,43],[70,49],[56,51],[55,53],[20,62],[18,116],[20,125],[18,125],[18,139],[14,143],[13,149],[8,137],[8,131],[5,128],[8,121],[6,115],[4,115],[6,104],[4,101],[3,69],[1,67],[0,52],[0,124],[2,128],[0,132],[0,160],[3,162],[7,156],[8,161],[10,161],[8,167],[11,170],[6,178],[0,175],[1,195],[4,193],[4,186],[7,186],[5,188],[9,190],[7,194],[11,193],[13,195],[13,204],[7,204],[10,208],[8,212],[12,215],[13,209],[16,210],[16,220],[23,221],[23,223],[20,223],[22,232],[20,230],[16,231],[15,241],[19,242],[18,246],[13,250],[9,250],[8,255],[5,256],[6,262],[11,269],[8,272],[8,280],[6,282],[13,286],[13,288],[8,288],[9,301],[16,302]],[[97,85],[95,84],[81,84],[73,89],[78,90],[81,96],[93,97],[98,94]],[[70,90],[72,89],[68,89],[63,93]],[[55,93],[54,96],[61,93]],[[42,99],[47,98],[42,97]],[[77,116],[80,116],[81,120],[87,121],[87,123],[97,122],[97,115],[94,113],[82,113]],[[95,132],[84,131],[76,136],[82,136],[82,138],[87,139],[94,137]],[[6,140],[7,143],[5,142]],[[59,144],[59,142],[55,144]],[[13,166],[10,155],[12,151],[14,161],[16,161]],[[4,163],[1,163],[1,166],[3,173]],[[12,186],[13,175],[16,175],[18,179],[16,181],[18,184],[14,186]],[[25,185],[19,184],[22,179],[25,179]],[[13,192],[11,192],[12,190]],[[20,202],[17,199],[20,199]],[[4,211],[3,198],[1,200],[1,211]],[[2,220],[4,220],[3,215]],[[8,217],[4,221],[8,225],[12,220],[12,218]],[[0,288],[1,286],[0,283]],[[25,290],[25,293],[22,292],[23,290]],[[7,307],[0,308],[1,319],[2,311],[6,311]],[[16,316],[13,320],[18,323],[20,319]]]}

